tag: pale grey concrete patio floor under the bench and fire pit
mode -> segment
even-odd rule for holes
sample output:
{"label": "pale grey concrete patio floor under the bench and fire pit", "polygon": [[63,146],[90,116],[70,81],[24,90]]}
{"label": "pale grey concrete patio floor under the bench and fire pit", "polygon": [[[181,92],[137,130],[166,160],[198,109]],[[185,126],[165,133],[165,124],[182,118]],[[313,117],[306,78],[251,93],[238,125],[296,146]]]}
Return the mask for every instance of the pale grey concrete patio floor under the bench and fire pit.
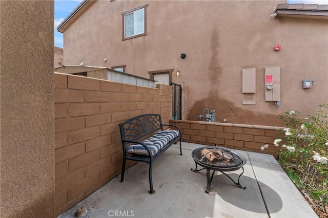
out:
{"label": "pale grey concrete patio floor under the bench and fire pit", "polygon": [[[87,205],[84,217],[318,217],[271,155],[236,150],[246,159],[241,189],[221,172],[215,172],[210,193],[206,170],[193,172],[193,149],[203,145],[182,143],[169,148],[153,165],[155,194],[149,194],[146,163],[137,163],[58,217],[76,217]],[[199,169],[199,166],[198,166]],[[211,171],[212,172],[212,171]],[[242,169],[230,172],[237,180]]]}

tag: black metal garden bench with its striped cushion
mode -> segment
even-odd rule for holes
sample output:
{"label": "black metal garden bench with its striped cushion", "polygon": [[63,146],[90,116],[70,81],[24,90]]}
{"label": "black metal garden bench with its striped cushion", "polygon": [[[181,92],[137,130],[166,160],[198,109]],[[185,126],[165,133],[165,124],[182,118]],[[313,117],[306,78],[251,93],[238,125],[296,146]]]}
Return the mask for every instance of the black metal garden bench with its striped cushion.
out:
{"label": "black metal garden bench with its striped cushion", "polygon": [[[163,126],[173,130],[164,130]],[[176,125],[162,124],[160,114],[145,114],[120,123],[119,129],[123,146],[121,182],[124,181],[126,160],[146,162],[149,164],[149,193],[155,193],[152,164],[178,141],[180,141],[180,155],[182,155],[180,128]]]}

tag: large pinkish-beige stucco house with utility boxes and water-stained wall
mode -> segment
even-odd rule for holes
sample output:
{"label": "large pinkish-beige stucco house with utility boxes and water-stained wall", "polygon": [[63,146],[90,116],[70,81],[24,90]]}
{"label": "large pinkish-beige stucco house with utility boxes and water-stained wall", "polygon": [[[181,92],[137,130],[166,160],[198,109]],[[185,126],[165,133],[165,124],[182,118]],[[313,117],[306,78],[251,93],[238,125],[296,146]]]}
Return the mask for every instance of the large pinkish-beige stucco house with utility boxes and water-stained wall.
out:
{"label": "large pinkish-beige stucco house with utility boxes and water-stained wall", "polygon": [[327,17],[286,1],[85,0],[57,30],[65,65],[186,83],[189,120],[209,108],[217,122],[281,126],[283,111],[328,101]]}

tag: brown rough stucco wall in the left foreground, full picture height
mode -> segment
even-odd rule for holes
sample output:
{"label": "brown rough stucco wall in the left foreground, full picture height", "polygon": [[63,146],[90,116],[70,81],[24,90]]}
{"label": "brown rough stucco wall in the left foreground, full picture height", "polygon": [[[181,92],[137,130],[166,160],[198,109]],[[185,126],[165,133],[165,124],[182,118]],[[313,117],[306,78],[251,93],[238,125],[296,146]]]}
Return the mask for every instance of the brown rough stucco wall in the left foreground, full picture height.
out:
{"label": "brown rough stucco wall in the left foreground, full picture height", "polygon": [[53,1],[0,13],[0,216],[54,217]]}

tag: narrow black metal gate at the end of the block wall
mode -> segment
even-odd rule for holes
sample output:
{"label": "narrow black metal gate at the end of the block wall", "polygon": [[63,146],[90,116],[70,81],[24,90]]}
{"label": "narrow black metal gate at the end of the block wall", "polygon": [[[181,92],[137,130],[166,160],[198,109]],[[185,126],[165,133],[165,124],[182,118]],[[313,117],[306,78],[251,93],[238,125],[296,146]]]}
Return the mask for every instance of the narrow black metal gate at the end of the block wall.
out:
{"label": "narrow black metal gate at the end of the block wall", "polygon": [[172,86],[172,119],[182,120],[182,86],[170,82]]}

